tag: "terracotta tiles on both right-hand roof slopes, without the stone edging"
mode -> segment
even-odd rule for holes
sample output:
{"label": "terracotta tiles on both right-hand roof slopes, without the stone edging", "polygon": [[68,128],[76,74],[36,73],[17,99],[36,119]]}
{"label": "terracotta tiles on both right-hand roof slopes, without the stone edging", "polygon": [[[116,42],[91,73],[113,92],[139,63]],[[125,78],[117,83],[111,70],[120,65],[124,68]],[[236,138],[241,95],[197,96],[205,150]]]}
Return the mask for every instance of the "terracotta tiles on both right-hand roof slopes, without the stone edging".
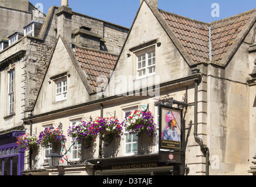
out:
{"label": "terracotta tiles on both right-hand roof slopes, without the stone edging", "polygon": [[209,27],[211,27],[212,60],[218,62],[231,49],[234,40],[244,29],[255,9],[213,23],[203,23],[174,13],[159,11],[167,21],[170,31],[177,37],[192,63],[195,64],[209,60]]}

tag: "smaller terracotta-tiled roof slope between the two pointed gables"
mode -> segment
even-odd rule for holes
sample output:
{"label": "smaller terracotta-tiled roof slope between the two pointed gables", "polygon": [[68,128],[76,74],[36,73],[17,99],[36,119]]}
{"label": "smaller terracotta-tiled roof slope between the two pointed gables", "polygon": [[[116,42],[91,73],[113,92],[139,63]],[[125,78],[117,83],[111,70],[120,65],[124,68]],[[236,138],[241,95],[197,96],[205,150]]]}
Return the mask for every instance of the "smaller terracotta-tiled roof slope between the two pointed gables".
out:
{"label": "smaller terracotta-tiled roof slope between the two pointed gables", "polygon": [[118,56],[104,51],[75,46],[73,48],[80,67],[85,72],[86,78],[94,92],[97,91],[97,77],[105,76],[110,78],[110,71],[113,71]]}

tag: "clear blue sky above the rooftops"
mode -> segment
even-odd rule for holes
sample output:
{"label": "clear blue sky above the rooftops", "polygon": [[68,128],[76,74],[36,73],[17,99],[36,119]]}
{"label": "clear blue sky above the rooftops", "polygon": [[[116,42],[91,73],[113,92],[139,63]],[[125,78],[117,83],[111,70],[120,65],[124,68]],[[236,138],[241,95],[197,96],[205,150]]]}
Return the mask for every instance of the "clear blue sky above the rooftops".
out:
{"label": "clear blue sky above the rooftops", "polygon": [[[33,5],[41,3],[46,14],[52,5],[60,6],[61,0],[29,0]],[[220,17],[213,18],[211,5],[220,5]],[[75,12],[117,25],[129,27],[139,8],[140,0],[69,0]],[[256,8],[255,0],[159,0],[159,9],[197,19],[213,22]]]}

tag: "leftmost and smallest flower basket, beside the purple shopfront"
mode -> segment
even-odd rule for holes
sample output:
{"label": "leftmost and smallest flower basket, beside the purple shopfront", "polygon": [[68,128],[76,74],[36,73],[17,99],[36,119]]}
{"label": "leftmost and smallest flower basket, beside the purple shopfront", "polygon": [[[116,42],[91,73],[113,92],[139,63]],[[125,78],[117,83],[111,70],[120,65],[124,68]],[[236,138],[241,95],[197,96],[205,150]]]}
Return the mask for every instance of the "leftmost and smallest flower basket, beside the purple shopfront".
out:
{"label": "leftmost and smallest flower basket, beside the purple shopfront", "polygon": [[19,136],[16,143],[18,144],[18,148],[22,148],[23,150],[29,150],[38,146],[37,141],[38,138],[36,136],[30,136],[28,133],[26,133],[22,136]]}

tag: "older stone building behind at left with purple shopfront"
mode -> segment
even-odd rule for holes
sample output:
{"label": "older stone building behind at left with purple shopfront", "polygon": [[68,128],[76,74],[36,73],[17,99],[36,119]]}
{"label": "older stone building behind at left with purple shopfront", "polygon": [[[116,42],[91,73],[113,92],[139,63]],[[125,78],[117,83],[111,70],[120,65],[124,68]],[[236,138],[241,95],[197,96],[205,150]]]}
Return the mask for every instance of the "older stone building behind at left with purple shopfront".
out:
{"label": "older stone building behind at left with purple shopfront", "polygon": [[25,131],[36,133],[22,119],[35,104],[58,35],[118,54],[129,29],[68,6],[52,6],[44,15],[28,0],[0,1],[0,16],[0,174],[20,175],[29,160],[15,148],[16,137]]}

